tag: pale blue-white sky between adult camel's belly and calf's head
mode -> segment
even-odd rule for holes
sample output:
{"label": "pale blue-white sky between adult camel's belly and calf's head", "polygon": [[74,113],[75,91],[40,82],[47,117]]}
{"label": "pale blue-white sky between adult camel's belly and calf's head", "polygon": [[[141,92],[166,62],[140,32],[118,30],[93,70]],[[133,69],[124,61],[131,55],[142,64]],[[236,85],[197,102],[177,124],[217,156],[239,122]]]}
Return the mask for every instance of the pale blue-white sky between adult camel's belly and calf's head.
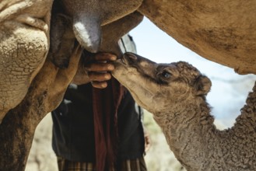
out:
{"label": "pale blue-white sky between adult camel's belly and calf's head", "polygon": [[[235,118],[240,114],[240,108],[244,106],[247,93],[251,91],[254,83],[251,80],[256,80],[255,75],[238,75],[233,68],[202,58],[179,44],[146,17],[130,32],[130,35],[135,40],[139,55],[158,63],[187,61],[208,76],[212,81],[212,89],[206,98],[212,106],[212,115],[225,127],[233,125]],[[245,82],[250,83],[244,87]],[[244,88],[239,89],[241,86]]]}

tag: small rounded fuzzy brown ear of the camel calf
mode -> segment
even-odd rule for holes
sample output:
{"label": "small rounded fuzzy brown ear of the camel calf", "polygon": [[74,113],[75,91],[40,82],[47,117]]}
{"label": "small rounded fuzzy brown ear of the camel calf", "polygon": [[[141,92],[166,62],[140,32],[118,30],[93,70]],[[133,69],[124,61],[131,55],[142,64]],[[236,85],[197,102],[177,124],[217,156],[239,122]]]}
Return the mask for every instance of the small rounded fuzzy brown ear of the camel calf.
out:
{"label": "small rounded fuzzy brown ear of the camel calf", "polygon": [[195,94],[198,96],[206,95],[210,91],[211,86],[211,80],[208,77],[202,75],[195,81]]}

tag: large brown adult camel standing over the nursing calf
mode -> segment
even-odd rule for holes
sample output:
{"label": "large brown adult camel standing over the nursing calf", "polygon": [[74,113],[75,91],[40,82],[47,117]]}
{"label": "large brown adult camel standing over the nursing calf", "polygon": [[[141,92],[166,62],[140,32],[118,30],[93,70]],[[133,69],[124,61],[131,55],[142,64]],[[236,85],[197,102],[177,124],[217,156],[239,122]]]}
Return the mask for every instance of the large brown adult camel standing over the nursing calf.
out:
{"label": "large brown adult camel standing over the nursing calf", "polygon": [[[119,51],[116,44],[114,47],[106,45],[107,49],[99,46],[99,26],[107,26],[137,11],[138,18],[133,18],[135,23],[138,23],[142,15],[147,16],[160,29],[202,57],[234,68],[240,74],[256,73],[254,0],[144,0],[133,1],[135,4],[132,5],[121,4],[121,8],[114,0],[105,1],[105,5],[97,3],[98,1],[73,2],[74,8],[67,9],[65,14],[72,17],[73,21],[78,21],[72,26],[75,38],[89,51]],[[0,2],[0,155],[5,156],[5,159],[0,161],[1,169],[24,169],[35,127],[48,111],[58,106],[75,72],[70,72],[71,75],[68,75],[69,72],[61,72],[62,69],[52,65],[47,58],[50,49],[52,3],[53,0]],[[83,13],[85,11],[89,12],[88,18],[79,20],[81,16],[87,16]],[[84,29],[82,26],[85,26],[84,21],[89,22],[86,26],[90,26],[86,29],[89,33],[87,38],[81,32]],[[117,27],[110,28],[129,26],[122,25],[121,20],[119,22]],[[97,31],[91,32],[91,28],[96,28]],[[111,40],[108,36],[111,44],[116,43],[116,38],[115,36]],[[37,51],[34,51],[35,49]],[[79,54],[78,50],[79,47],[73,48],[71,54]],[[57,84],[54,80],[65,83]],[[58,95],[51,95],[55,92],[54,87],[56,88],[53,84],[61,86],[61,91],[56,92]]]}

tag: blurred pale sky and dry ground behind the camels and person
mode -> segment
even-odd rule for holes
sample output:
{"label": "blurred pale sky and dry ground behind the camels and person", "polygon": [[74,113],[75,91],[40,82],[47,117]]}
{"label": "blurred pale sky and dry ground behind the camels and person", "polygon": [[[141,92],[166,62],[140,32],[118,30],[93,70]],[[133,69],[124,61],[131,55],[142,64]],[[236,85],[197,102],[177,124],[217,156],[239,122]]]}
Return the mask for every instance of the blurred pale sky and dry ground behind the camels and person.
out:
{"label": "blurred pale sky and dry ground behind the camels and person", "polygon": [[[233,69],[218,65],[198,56],[188,48],[177,43],[149,19],[144,18],[130,35],[135,41],[137,53],[158,63],[187,61],[212,80],[212,89],[207,96],[212,106],[212,115],[219,129],[232,127],[240,108],[244,106],[247,93],[251,91],[256,75],[237,75]],[[151,113],[145,111],[144,124],[150,134],[151,148],[146,154],[149,171],[185,170],[167,145],[160,127],[156,125]],[[26,171],[57,171],[57,162],[51,149],[51,115],[37,127],[33,146],[26,165]]]}

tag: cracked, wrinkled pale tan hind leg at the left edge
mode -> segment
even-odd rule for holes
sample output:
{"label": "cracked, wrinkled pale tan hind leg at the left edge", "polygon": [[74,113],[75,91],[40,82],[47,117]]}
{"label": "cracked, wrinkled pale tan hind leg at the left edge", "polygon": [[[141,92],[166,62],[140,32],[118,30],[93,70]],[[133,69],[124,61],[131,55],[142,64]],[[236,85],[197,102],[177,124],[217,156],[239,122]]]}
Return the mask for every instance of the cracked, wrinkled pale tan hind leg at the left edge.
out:
{"label": "cracked, wrinkled pale tan hind leg at the left edge", "polygon": [[51,0],[0,1],[0,123],[44,65],[50,13]]}

